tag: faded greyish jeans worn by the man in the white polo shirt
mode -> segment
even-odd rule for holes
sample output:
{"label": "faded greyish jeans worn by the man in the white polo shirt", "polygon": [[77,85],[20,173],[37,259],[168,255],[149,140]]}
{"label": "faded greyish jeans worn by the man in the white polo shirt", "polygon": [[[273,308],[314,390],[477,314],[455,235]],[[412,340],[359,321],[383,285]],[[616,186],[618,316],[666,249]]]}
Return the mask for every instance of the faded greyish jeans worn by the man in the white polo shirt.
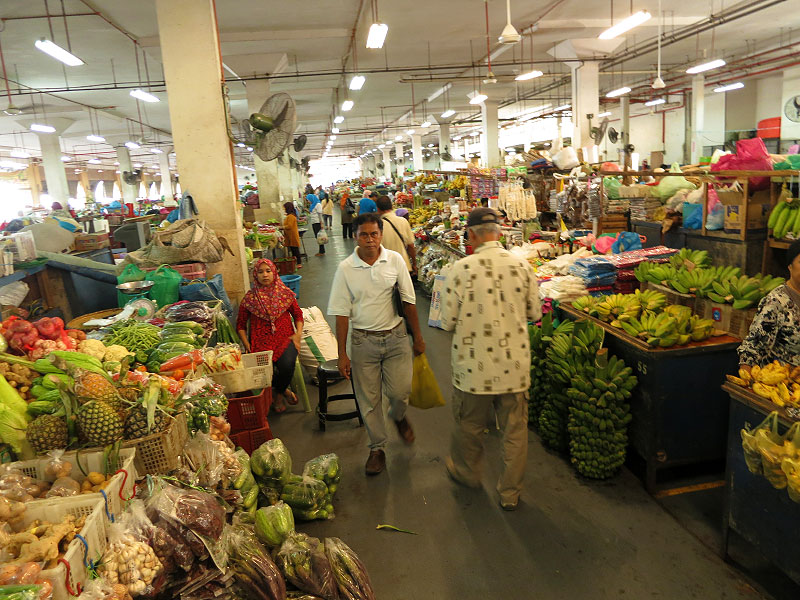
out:
{"label": "faded greyish jeans worn by the man in the white polo shirt", "polygon": [[371,450],[384,448],[383,397],[389,402],[389,418],[400,421],[406,416],[411,394],[411,336],[406,332],[405,321],[387,332],[354,329],[350,334],[350,361],[369,447]]}

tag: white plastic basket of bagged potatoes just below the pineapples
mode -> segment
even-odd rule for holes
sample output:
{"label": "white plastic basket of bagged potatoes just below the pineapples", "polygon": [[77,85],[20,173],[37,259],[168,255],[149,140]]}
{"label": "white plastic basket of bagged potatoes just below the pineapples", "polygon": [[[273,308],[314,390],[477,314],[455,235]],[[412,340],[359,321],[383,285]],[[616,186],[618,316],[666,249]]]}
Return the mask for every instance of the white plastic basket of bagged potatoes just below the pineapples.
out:
{"label": "white plastic basket of bagged potatoes just below the pineapples", "polygon": [[[110,465],[113,471],[121,471],[111,478],[111,481],[106,485],[106,489],[102,492],[91,494],[79,494],[78,496],[67,496],[66,498],[42,498],[33,500],[27,503],[28,507],[37,506],[40,503],[46,506],[52,505],[53,502],[60,502],[65,499],[74,498],[87,498],[94,502],[98,500],[103,501],[103,512],[105,518],[114,522],[118,515],[122,514],[125,507],[125,502],[133,496],[133,486],[137,478],[135,466],[136,448],[122,448],[119,451],[118,465]],[[32,460],[21,461],[17,463],[20,470],[25,475],[40,479],[43,481],[54,481],[53,477],[45,475],[47,463],[50,462],[50,457],[35,458]],[[63,456],[65,462],[72,464],[72,474],[70,475],[78,483],[82,483],[85,477],[78,466],[80,460],[83,470],[87,473],[91,471],[103,472],[103,453],[102,452],[65,452]]]}

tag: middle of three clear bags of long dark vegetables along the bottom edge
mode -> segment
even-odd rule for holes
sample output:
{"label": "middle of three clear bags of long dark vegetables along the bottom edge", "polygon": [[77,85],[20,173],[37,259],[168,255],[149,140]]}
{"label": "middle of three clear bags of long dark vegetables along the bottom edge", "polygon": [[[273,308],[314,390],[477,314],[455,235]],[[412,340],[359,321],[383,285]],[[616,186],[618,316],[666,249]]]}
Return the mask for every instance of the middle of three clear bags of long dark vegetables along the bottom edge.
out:
{"label": "middle of three clear bags of long dark vegetables along the bottom edge", "polygon": [[281,545],[277,563],[297,589],[324,600],[338,600],[339,589],[322,543],[304,533],[291,533]]}

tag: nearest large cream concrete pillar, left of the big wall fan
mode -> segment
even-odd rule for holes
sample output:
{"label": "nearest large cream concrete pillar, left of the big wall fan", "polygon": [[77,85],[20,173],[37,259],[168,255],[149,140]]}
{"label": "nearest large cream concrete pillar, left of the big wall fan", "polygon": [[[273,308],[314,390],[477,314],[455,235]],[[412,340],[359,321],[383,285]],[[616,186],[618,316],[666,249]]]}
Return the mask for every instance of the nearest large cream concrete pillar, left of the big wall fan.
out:
{"label": "nearest large cream concrete pillar, left of the big wall fan", "polygon": [[[156,0],[170,124],[181,188],[233,251],[209,265],[234,303],[250,288],[233,147],[223,110],[222,57],[213,0]],[[202,124],[202,125],[200,125]]]}

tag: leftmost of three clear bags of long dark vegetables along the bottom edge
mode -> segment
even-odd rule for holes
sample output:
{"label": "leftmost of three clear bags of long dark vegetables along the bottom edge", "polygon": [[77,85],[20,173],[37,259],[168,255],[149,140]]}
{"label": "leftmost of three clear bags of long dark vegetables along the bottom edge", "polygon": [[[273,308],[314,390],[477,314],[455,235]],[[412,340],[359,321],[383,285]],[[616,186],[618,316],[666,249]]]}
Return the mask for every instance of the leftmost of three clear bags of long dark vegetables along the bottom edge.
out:
{"label": "leftmost of three clear bags of long dark vegetables along the bottom edge", "polygon": [[234,576],[248,598],[286,600],[286,583],[253,530],[234,525],[225,530]]}

